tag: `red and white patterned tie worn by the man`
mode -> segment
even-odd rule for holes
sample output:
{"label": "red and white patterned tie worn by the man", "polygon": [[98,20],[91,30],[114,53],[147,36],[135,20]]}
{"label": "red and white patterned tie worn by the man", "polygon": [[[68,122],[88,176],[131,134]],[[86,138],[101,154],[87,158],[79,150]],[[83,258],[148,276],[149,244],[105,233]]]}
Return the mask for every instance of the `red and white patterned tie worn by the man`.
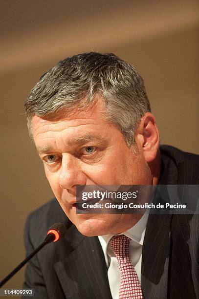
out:
{"label": "red and white patterned tie worn by the man", "polygon": [[129,255],[130,241],[126,235],[115,235],[109,242],[119,263],[121,275],[119,299],[143,299],[141,285]]}

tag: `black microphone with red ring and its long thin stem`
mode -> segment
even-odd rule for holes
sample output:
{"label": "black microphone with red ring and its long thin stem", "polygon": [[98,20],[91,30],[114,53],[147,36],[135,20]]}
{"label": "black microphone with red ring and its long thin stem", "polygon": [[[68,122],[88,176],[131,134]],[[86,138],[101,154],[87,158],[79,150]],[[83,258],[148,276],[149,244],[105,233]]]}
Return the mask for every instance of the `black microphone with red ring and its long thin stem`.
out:
{"label": "black microphone with red ring and its long thin stem", "polygon": [[54,223],[44,239],[44,242],[38,246],[29,256],[27,256],[10,274],[8,274],[3,280],[0,281],[0,288],[15,275],[38,251],[40,251],[46,244],[51,242],[57,242],[66,235],[66,226],[64,223]]}

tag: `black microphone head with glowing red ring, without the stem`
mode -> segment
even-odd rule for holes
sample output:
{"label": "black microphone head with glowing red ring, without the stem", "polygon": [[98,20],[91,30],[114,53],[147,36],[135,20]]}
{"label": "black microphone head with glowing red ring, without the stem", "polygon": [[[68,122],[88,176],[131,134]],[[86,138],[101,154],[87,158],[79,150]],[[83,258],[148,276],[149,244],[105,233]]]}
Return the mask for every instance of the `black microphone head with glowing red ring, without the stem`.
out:
{"label": "black microphone head with glowing red ring, without the stem", "polygon": [[51,225],[47,232],[45,240],[47,243],[57,242],[66,235],[66,225],[62,222],[57,222]]}

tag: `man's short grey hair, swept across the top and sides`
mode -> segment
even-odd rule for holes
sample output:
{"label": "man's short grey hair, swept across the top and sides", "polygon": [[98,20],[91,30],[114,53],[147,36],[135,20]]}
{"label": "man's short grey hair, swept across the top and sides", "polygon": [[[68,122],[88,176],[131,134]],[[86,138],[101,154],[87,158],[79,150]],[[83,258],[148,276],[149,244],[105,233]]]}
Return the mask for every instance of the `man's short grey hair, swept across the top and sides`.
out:
{"label": "man's short grey hair, swept across the top and sides", "polygon": [[131,147],[141,117],[151,111],[150,103],[136,69],[112,53],[68,57],[40,78],[25,102],[30,136],[34,115],[86,109],[94,105],[96,95],[104,98],[105,119],[120,129]]}

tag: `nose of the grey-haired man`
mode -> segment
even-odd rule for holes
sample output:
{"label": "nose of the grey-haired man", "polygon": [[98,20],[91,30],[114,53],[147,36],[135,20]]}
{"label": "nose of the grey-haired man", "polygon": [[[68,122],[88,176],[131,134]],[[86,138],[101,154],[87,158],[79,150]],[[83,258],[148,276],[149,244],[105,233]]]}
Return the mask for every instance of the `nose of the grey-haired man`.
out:
{"label": "nose of the grey-haired man", "polygon": [[59,173],[61,188],[67,189],[70,192],[76,192],[76,185],[86,185],[86,181],[86,174],[83,172],[78,158],[69,153],[63,154],[62,166]]}

